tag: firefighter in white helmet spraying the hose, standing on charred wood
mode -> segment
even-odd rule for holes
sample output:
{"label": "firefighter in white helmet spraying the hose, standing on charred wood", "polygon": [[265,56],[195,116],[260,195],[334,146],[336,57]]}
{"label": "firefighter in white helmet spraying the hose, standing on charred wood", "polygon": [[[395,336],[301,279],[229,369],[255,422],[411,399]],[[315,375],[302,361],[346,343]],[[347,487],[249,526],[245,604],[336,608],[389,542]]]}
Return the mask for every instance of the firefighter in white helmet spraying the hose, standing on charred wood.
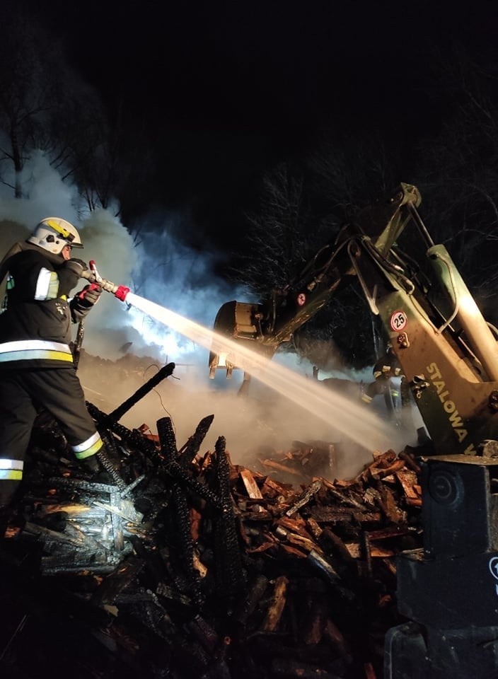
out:
{"label": "firefighter in white helmet spraying the hose, standing on charred wood", "polygon": [[0,264],[0,283],[6,280],[0,313],[0,536],[41,410],[57,420],[78,460],[100,468],[95,455],[103,441],[86,408],[70,343],[71,323],[95,306],[101,289],[87,284],[71,298],[87,269],[82,260],[71,259],[73,248],[83,248],[76,228],[47,217]]}

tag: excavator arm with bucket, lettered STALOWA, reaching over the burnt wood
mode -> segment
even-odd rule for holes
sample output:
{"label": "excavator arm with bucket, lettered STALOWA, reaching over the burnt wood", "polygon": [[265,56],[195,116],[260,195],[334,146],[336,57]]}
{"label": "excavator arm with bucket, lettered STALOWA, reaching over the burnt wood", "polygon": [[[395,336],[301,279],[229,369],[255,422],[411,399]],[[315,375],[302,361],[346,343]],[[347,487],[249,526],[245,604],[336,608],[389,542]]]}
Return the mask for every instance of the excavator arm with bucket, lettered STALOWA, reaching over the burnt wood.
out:
{"label": "excavator arm with bucket, lettered STALOWA, reaching over the burnt wood", "polygon": [[[419,214],[417,187],[401,184],[361,211],[296,279],[261,304],[230,301],[214,330],[271,359],[282,342],[354,282],[379,315],[435,450],[475,455],[498,436],[498,344],[444,245],[435,245]],[[410,226],[424,267],[400,250]],[[424,271],[424,268],[427,271]],[[237,366],[209,356],[210,376]]]}

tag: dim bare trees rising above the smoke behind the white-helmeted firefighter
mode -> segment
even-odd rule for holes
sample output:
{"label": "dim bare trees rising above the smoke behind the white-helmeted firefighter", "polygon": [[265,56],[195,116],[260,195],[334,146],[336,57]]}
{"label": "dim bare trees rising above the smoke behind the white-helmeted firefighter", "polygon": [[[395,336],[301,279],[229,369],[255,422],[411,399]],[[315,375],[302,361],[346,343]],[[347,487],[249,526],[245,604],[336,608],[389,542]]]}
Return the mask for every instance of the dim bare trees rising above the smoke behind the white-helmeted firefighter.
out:
{"label": "dim bare trees rising above the smoke behind the white-helmeted firefighter", "polygon": [[111,125],[100,98],[67,65],[62,44],[40,18],[22,0],[6,0],[0,8],[0,181],[23,197],[21,172],[37,149],[79,188],[90,211],[108,208],[133,183],[125,139],[120,112]]}

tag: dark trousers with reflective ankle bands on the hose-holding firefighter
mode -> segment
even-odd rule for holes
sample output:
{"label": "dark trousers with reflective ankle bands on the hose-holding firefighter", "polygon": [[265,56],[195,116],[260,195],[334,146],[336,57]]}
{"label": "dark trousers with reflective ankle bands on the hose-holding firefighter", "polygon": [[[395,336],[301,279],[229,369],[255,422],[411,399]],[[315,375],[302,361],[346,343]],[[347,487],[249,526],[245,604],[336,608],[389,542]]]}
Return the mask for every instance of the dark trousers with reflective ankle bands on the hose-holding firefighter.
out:
{"label": "dark trousers with reflective ankle bands on the hose-holding firefighter", "polygon": [[74,368],[0,370],[0,506],[13,499],[22,480],[31,430],[43,409],[57,420],[76,458],[103,446]]}

